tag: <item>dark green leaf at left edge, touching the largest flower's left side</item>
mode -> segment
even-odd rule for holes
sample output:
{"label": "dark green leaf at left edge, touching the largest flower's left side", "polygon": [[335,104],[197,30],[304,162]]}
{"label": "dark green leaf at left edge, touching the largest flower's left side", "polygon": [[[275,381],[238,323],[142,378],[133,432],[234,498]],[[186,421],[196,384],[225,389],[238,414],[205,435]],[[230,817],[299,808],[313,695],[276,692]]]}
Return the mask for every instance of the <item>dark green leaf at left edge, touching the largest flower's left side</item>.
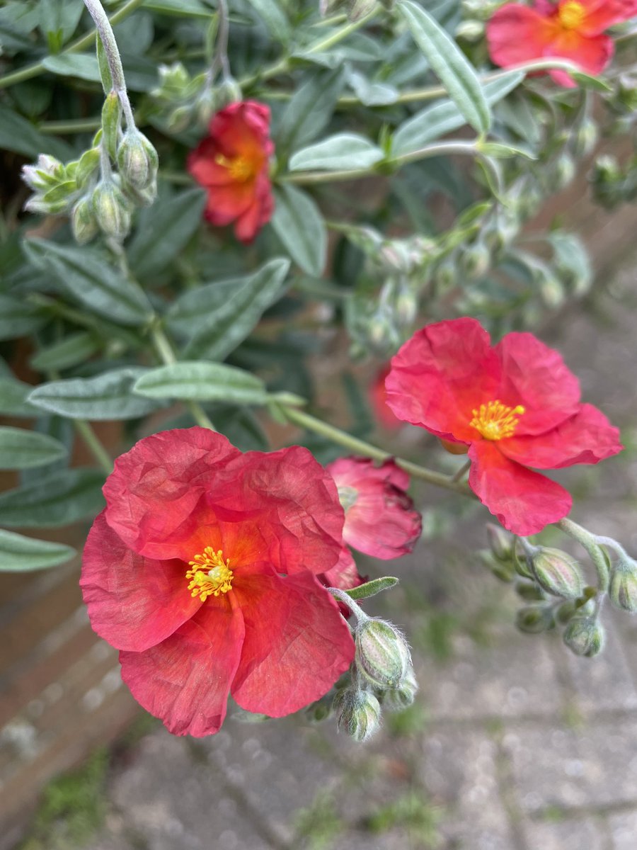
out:
{"label": "dark green leaf at left edge, touching the largest flower's left side", "polygon": [[0,523],[24,528],[69,525],[104,507],[99,469],[65,469],[0,493]]}

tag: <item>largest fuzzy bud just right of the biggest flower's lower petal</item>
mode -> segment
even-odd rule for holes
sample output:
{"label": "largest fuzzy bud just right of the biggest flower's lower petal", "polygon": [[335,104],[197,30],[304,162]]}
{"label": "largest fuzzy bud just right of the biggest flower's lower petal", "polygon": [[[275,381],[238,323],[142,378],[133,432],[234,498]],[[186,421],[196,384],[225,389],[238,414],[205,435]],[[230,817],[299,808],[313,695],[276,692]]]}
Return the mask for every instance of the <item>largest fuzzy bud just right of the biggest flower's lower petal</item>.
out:
{"label": "largest fuzzy bud just right of the biggest flower's lower petal", "polygon": [[355,634],[356,666],[376,688],[397,688],[407,673],[409,646],[391,623],[365,620]]}

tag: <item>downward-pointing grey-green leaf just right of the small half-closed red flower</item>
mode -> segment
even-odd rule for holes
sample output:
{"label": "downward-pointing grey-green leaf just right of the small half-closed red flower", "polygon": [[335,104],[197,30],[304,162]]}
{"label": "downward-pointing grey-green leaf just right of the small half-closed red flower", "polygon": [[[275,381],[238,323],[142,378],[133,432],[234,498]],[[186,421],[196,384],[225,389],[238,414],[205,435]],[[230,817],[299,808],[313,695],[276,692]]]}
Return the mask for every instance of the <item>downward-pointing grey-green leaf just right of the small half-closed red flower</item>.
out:
{"label": "downward-pointing grey-green leaf just right of the small half-closed red flower", "polygon": [[272,226],[294,262],[320,277],[327,258],[327,229],[312,198],[296,186],[274,189]]}

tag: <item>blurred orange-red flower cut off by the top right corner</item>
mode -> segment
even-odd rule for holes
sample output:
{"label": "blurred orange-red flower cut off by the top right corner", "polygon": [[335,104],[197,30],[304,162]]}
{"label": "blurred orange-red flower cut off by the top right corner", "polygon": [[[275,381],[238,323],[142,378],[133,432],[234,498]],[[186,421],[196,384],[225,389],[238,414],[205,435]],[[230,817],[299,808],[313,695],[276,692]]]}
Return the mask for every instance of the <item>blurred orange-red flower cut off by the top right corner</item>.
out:
{"label": "blurred orange-red flower cut off by the top right corner", "polygon": [[[637,0],[536,0],[501,6],[487,24],[487,42],[495,65],[559,57],[572,59],[588,74],[599,74],[612,59],[614,45],[604,30],[637,14]],[[562,86],[575,83],[567,71],[550,71]]]}

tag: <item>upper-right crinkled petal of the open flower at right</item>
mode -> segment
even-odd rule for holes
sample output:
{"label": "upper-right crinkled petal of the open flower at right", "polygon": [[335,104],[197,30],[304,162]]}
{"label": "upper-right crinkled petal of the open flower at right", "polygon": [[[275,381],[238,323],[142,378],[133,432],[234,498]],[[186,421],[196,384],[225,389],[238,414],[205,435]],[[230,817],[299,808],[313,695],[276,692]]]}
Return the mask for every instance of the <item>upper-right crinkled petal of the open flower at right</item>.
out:
{"label": "upper-right crinkled petal of the open flower at right", "polygon": [[523,405],[516,437],[555,428],[579,408],[579,382],[561,354],[532,333],[508,333],[494,348],[502,363],[497,398],[505,405]]}

